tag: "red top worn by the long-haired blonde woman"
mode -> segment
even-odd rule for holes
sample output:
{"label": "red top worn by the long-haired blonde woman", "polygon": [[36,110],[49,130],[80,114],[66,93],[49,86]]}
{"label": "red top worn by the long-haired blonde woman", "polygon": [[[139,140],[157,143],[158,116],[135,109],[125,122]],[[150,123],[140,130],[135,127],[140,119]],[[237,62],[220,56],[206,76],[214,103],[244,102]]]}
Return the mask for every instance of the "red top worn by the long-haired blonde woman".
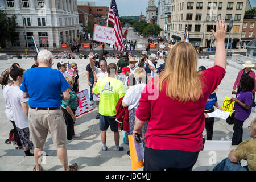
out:
{"label": "red top worn by the long-haired blonde woman", "polygon": [[156,84],[151,86],[153,78],[142,91],[136,110],[138,119],[149,119],[146,146],[159,150],[200,151],[203,147],[204,107],[225,73],[219,66],[205,69],[201,79],[205,85],[203,98],[196,102],[179,102],[167,97],[165,92],[154,90]]}

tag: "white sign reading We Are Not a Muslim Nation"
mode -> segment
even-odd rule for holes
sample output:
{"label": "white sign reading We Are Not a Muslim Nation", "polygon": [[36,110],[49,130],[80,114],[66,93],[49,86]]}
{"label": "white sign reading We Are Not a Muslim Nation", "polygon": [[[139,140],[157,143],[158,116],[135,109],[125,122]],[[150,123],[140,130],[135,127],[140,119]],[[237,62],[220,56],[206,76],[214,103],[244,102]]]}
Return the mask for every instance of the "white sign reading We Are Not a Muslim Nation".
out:
{"label": "white sign reading We Are Not a Muslim Nation", "polygon": [[93,40],[108,44],[115,44],[114,28],[94,24]]}

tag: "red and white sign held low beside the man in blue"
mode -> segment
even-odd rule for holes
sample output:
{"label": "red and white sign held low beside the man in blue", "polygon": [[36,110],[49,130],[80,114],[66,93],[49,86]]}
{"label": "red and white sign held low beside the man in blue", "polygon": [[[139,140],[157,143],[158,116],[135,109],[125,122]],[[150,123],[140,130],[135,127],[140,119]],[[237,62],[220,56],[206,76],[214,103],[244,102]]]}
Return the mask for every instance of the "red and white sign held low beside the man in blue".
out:
{"label": "red and white sign held low beside the man in blue", "polygon": [[79,106],[77,106],[77,109],[75,111],[75,117],[78,118],[84,115],[85,113],[92,111],[93,108],[90,104],[90,98],[87,89],[77,92],[76,94],[80,97]]}

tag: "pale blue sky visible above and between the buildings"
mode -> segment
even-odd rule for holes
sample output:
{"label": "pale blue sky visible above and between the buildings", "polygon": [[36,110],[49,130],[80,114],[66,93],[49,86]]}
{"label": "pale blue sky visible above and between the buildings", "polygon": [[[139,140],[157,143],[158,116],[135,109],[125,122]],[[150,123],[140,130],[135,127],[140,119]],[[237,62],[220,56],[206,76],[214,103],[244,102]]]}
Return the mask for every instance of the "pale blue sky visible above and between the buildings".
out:
{"label": "pale blue sky visible above and between the buildings", "polygon": [[[77,0],[95,2],[96,6],[109,6],[110,0]],[[146,15],[146,7],[148,0],[115,0],[117,2],[117,8],[119,16],[139,16]],[[251,6],[256,7],[256,0],[250,0]],[[155,0],[156,7],[158,6],[158,0]]]}

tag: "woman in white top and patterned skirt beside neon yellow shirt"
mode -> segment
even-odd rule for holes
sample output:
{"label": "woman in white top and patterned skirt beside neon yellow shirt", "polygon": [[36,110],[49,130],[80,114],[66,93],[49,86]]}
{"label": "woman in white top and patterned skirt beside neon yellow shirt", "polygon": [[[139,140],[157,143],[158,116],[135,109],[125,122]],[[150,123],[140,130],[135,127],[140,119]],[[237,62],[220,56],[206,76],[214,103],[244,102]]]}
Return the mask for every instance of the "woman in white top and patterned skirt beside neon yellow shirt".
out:
{"label": "woman in white top and patterned skirt beside neon yellow shirt", "polygon": [[[122,105],[123,107],[128,107],[129,110],[129,134],[133,134],[134,124],[135,124],[135,115],[136,109],[141,98],[142,90],[146,87],[146,71],[144,68],[138,68],[134,71],[136,85],[130,86],[127,90],[125,97],[123,97]],[[148,123],[142,127],[143,135],[146,133]],[[128,133],[126,134],[126,141],[128,141]],[[144,137],[142,139],[143,146],[145,146]],[[130,156],[130,151],[127,152],[127,155]]]}

